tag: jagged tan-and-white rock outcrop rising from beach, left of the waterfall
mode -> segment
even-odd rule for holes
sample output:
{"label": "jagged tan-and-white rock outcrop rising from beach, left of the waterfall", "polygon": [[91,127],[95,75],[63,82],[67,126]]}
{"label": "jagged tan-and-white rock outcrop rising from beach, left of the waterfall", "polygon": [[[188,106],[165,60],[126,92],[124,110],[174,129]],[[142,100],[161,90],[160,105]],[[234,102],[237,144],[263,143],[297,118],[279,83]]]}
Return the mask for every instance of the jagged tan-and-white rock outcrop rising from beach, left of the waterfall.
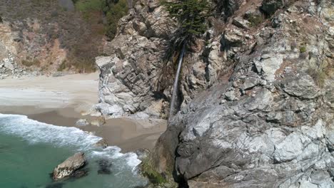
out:
{"label": "jagged tan-and-white rock outcrop rising from beach, left of the waterfall", "polygon": [[[101,70],[101,103],[96,109],[103,115],[160,115],[163,102],[155,88],[175,24],[156,3],[138,2],[130,14],[119,21],[118,34],[105,46],[105,53],[113,56],[96,58]],[[158,105],[153,101],[158,101]],[[138,113],[145,110],[145,114]]]}

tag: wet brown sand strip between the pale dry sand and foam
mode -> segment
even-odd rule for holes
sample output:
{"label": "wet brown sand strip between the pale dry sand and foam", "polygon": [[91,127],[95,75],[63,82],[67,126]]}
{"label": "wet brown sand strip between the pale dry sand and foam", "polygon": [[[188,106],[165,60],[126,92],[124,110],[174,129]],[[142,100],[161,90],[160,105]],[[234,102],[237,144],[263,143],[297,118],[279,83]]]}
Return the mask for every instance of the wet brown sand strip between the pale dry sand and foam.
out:
{"label": "wet brown sand strip between the pale dry sand and foam", "polygon": [[95,117],[83,116],[74,108],[42,109],[24,106],[20,110],[0,106],[0,113],[26,115],[31,120],[61,127],[76,127],[106,140],[108,145],[117,146],[122,152],[133,152],[141,148],[153,149],[158,137],[166,130],[166,121],[132,120],[115,118],[106,120],[105,125],[76,126],[79,119],[93,120]]}

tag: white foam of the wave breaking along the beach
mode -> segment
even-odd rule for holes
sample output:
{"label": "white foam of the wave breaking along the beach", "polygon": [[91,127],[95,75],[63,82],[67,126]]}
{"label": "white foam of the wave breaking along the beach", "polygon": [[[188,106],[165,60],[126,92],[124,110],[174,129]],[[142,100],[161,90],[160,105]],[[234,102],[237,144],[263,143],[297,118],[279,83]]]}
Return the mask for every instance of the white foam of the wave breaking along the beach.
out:
{"label": "white foam of the wave breaking along the beach", "polygon": [[31,144],[50,143],[57,147],[74,147],[76,150],[88,151],[91,157],[121,159],[126,161],[128,167],[132,169],[135,169],[141,163],[135,153],[123,154],[121,148],[116,146],[97,150],[94,145],[98,140],[101,140],[101,137],[90,135],[76,127],[60,127],[31,120],[25,115],[0,114],[0,132],[22,137]]}

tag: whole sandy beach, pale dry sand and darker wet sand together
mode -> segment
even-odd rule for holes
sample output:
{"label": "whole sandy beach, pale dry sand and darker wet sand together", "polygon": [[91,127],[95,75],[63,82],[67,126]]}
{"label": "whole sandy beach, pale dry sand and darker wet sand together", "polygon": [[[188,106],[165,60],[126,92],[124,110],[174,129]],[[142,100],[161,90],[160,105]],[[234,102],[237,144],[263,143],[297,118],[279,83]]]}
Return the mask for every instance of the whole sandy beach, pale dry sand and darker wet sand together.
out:
{"label": "whole sandy beach, pale dry sand and darker wet sand together", "polygon": [[[81,118],[93,120],[95,117],[82,116],[81,112],[97,102],[98,73],[0,80],[0,113],[27,115],[52,125],[76,127],[75,122]],[[151,149],[166,130],[166,121],[118,118],[100,127],[78,128],[128,152]]]}

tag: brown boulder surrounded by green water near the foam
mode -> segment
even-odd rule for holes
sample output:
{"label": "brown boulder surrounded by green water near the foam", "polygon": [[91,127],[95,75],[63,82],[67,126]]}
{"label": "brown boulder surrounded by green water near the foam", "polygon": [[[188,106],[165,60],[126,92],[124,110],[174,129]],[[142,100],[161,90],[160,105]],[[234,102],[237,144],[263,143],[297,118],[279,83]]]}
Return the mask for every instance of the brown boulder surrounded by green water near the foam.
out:
{"label": "brown boulder surrounded by green water near the foam", "polygon": [[84,157],[84,153],[78,152],[59,164],[54,169],[52,178],[55,181],[58,181],[66,177],[71,177],[78,171],[78,169],[81,169],[81,167],[85,166],[85,164],[86,159]]}

